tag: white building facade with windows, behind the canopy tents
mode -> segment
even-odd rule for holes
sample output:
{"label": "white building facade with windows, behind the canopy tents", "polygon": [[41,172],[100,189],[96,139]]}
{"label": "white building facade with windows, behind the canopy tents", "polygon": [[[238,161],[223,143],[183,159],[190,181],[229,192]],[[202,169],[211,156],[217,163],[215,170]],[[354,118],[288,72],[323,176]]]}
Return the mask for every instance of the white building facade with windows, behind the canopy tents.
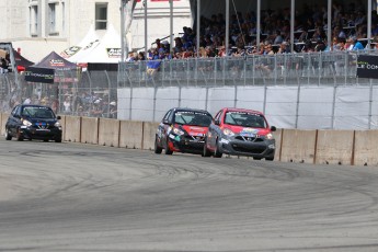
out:
{"label": "white building facade with windows, behind the canopy tents", "polygon": [[[128,37],[130,49],[144,47],[145,3],[136,0],[135,15]],[[173,32],[192,24],[190,0],[174,0],[176,19]],[[148,0],[148,45],[170,33],[169,0]],[[0,41],[12,42],[13,47],[32,61],[38,61],[50,51],[60,53],[77,45],[94,28],[101,38],[112,25],[121,31],[121,0],[0,0],[3,21]],[[121,42],[119,42],[121,47]]]}

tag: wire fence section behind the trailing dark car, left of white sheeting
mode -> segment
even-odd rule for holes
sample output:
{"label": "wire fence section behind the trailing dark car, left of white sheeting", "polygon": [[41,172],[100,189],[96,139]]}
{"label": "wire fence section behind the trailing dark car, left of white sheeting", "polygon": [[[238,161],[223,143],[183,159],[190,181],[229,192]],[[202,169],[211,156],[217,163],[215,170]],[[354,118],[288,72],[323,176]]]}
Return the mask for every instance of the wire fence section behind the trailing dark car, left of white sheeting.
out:
{"label": "wire fence section behind the trailing dark car, left of white sheeting", "polygon": [[59,114],[116,118],[117,72],[56,72],[54,84],[26,82],[23,75],[9,72],[0,76],[0,101],[2,112],[32,103]]}

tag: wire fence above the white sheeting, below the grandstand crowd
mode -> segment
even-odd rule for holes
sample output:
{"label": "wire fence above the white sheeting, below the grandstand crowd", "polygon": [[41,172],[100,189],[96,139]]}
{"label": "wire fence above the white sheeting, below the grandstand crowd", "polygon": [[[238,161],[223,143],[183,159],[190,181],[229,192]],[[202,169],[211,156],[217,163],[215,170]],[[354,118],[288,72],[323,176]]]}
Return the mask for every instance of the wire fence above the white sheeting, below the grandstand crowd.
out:
{"label": "wire fence above the white sheeting, below the grandstand crowd", "polygon": [[[321,51],[188,58],[119,65],[121,87],[356,84],[357,54]],[[150,67],[151,66],[151,67]]]}

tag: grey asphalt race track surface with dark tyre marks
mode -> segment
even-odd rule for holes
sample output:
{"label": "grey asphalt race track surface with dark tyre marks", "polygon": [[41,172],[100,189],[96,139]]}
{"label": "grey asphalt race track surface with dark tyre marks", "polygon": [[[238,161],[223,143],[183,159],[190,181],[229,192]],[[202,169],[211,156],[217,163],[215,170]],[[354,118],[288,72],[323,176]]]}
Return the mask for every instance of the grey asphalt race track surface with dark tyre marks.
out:
{"label": "grey asphalt race track surface with dark tyre marks", "polygon": [[378,167],[0,139],[0,251],[378,251]]}

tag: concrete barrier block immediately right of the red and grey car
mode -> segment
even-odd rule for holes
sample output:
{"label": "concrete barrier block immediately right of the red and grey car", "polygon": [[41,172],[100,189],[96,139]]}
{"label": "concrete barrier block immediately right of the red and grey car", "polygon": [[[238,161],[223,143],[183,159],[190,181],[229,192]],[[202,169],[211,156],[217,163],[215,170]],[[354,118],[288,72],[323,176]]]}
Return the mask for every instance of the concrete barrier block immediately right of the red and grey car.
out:
{"label": "concrete barrier block immediately right of the red and grey car", "polygon": [[314,163],[317,130],[283,129],[282,135],[280,161]]}

